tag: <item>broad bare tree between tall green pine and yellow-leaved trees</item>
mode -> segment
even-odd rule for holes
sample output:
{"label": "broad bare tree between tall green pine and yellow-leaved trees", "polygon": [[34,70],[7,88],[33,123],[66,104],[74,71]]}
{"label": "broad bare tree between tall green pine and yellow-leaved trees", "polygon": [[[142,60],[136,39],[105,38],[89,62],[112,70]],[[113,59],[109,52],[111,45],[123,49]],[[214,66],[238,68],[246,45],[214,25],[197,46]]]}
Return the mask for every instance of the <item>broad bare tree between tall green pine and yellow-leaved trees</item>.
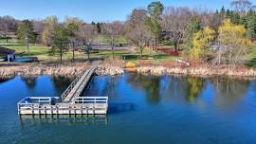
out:
{"label": "broad bare tree between tall green pine and yellow-leaved trees", "polygon": [[161,25],[168,33],[167,39],[173,41],[175,51],[179,49],[191,17],[192,10],[188,8],[169,7],[162,14]]}

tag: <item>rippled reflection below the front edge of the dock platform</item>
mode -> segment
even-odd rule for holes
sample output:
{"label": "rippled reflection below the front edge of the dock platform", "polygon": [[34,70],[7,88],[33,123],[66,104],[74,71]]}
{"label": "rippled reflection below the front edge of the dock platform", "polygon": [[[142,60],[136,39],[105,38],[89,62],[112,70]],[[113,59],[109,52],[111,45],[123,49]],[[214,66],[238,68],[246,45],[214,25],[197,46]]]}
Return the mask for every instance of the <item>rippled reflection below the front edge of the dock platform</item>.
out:
{"label": "rippled reflection below the front edge of the dock platform", "polygon": [[22,126],[40,124],[84,124],[84,125],[107,125],[106,115],[22,115]]}

